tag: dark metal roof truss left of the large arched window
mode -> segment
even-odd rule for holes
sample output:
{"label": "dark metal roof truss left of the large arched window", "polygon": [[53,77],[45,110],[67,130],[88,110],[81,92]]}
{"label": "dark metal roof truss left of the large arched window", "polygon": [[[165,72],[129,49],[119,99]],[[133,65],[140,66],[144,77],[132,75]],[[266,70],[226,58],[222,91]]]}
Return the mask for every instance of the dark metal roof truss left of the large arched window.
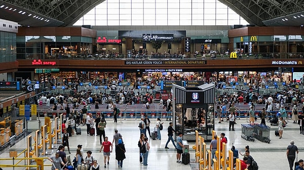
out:
{"label": "dark metal roof truss left of the large arched window", "polygon": [[104,0],[4,0],[24,9],[64,22],[71,26]]}

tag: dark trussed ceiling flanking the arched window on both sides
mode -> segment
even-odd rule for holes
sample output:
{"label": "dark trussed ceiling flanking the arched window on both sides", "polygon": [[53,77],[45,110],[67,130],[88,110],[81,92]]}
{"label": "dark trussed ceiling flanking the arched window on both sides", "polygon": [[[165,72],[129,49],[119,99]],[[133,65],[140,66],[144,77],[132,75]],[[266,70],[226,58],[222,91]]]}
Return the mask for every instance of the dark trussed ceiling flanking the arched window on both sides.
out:
{"label": "dark trussed ceiling flanking the arched window on both sides", "polygon": [[[0,0],[0,18],[31,27],[72,26],[105,0]],[[304,0],[218,0],[250,24],[301,26]]]}

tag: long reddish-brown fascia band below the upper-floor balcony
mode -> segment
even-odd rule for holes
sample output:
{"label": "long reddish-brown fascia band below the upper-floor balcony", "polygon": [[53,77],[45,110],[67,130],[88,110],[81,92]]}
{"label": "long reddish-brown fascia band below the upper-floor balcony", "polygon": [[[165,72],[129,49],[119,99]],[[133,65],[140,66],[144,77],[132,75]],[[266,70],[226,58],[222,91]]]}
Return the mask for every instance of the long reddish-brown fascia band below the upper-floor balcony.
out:
{"label": "long reddish-brown fascia band below the upper-floor balcony", "polygon": [[[249,68],[278,68],[294,67],[302,68],[303,64],[298,65],[273,65],[273,61],[301,61],[303,60],[207,60],[206,65],[125,65],[125,60],[42,60],[42,62],[56,62],[55,65],[32,65],[30,60],[19,60],[20,69],[26,68],[68,68],[68,69],[249,69]],[[134,61],[134,60],[132,60]],[[141,60],[138,60],[141,61]],[[153,60],[149,60],[153,61]],[[170,60],[171,61],[171,60]],[[186,60],[185,60],[186,61]],[[198,61],[198,60],[197,60]]]}

